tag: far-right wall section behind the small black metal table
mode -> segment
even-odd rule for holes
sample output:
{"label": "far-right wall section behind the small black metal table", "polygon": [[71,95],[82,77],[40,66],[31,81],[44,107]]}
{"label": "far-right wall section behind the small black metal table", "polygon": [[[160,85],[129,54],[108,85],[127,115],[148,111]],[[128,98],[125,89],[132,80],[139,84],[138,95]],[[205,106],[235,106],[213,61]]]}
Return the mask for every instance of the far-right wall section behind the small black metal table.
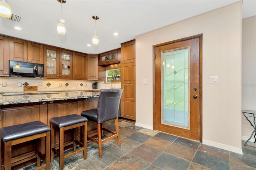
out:
{"label": "far-right wall section behind the small black metal table", "polygon": [[[242,20],[242,110],[256,111],[256,16]],[[242,115],[242,139],[247,140],[252,131]]]}

